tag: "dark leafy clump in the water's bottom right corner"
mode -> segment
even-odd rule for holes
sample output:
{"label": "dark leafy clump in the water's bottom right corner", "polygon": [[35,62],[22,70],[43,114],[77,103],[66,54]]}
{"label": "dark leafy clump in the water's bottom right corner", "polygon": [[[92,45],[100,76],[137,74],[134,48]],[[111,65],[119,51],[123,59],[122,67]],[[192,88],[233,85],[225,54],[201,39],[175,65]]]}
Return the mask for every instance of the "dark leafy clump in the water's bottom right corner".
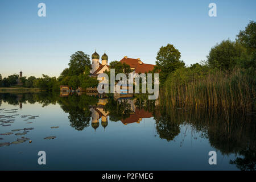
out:
{"label": "dark leafy clump in the water's bottom right corner", "polygon": [[[245,150],[238,152],[240,157],[235,160],[230,160],[230,164],[234,164],[242,171],[255,171],[256,169],[256,156],[254,148],[246,147]],[[243,157],[241,157],[243,156]]]}

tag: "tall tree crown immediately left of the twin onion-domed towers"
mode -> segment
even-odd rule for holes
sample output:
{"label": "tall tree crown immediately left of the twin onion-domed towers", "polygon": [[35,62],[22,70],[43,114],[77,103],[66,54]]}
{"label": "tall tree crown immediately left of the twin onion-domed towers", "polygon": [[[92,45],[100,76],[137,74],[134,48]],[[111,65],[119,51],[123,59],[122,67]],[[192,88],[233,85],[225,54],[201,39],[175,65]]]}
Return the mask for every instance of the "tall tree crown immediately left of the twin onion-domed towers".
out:
{"label": "tall tree crown immediately left of the twin onion-domed towers", "polygon": [[[68,63],[68,75],[69,76],[79,76],[81,73],[84,73],[85,66],[90,67],[90,56],[85,54],[82,51],[77,51],[73,53],[71,59]],[[66,71],[65,71],[66,72]]]}

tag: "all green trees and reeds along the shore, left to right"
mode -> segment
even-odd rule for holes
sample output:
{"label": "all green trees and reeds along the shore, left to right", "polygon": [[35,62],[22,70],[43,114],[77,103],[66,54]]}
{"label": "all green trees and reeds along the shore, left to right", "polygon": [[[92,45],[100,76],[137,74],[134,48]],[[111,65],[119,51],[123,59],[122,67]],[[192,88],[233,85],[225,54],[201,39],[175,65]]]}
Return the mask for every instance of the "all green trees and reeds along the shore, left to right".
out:
{"label": "all green trees and reeds along the shore, left to right", "polygon": [[[154,70],[159,73],[159,101],[168,107],[203,108],[249,112],[255,110],[256,23],[250,21],[236,40],[223,40],[213,46],[207,60],[185,65],[180,51],[172,44],[160,47]],[[59,77],[22,77],[23,88],[55,92],[60,85],[73,89],[95,87],[98,80],[89,76],[90,56],[82,51],[71,55],[69,67]],[[112,61],[115,73],[130,73],[129,65]],[[106,72],[108,73],[108,72]],[[109,73],[108,73],[109,74]],[[16,84],[18,75],[2,78],[0,92]],[[10,88],[19,90],[18,88]],[[28,89],[29,90],[29,89]]]}

